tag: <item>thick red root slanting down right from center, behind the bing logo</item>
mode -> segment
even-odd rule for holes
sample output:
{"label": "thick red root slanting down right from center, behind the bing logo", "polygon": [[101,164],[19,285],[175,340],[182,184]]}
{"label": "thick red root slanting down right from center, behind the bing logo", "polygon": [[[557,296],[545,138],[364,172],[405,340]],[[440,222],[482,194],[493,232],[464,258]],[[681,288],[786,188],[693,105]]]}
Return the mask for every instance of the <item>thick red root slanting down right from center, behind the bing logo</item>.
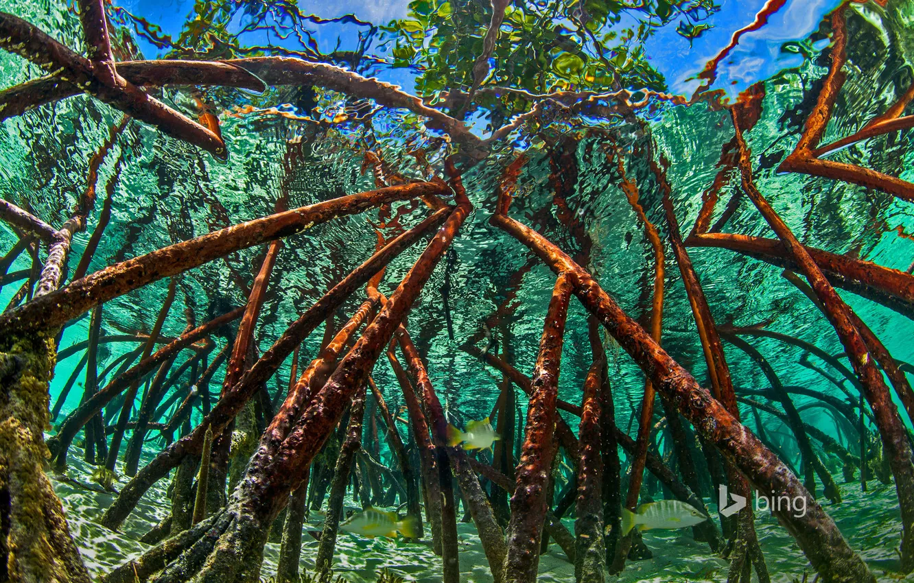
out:
{"label": "thick red root slanting down right from center, behind the bing logo", "polygon": [[587,271],[542,235],[507,217],[510,199],[504,192],[502,196],[506,200],[499,205],[500,212],[492,217],[494,225],[525,244],[556,273],[574,276],[574,292],[582,305],[600,320],[651,378],[657,390],[675,402],[705,439],[717,446],[756,487],[807,500],[808,510],[802,517],[784,512],[775,514],[794,536],[824,583],[874,582],[876,578],[866,564],[848,546],[834,521],[811,499],[796,476],[656,345]]}

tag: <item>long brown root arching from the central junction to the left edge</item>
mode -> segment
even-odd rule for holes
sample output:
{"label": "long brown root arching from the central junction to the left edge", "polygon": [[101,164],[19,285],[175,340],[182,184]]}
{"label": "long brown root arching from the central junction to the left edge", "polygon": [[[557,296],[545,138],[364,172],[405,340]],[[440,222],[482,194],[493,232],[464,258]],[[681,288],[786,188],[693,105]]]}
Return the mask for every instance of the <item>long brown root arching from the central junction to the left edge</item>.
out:
{"label": "long brown root arching from the central junction to the left edge", "polygon": [[191,270],[233,251],[290,237],[335,217],[352,215],[396,200],[444,194],[444,190],[441,185],[433,183],[390,186],[257,218],[176,243],[92,273],[57,292],[4,313],[0,316],[0,334],[12,334],[35,325],[53,328],[99,303],[108,302],[153,281]]}

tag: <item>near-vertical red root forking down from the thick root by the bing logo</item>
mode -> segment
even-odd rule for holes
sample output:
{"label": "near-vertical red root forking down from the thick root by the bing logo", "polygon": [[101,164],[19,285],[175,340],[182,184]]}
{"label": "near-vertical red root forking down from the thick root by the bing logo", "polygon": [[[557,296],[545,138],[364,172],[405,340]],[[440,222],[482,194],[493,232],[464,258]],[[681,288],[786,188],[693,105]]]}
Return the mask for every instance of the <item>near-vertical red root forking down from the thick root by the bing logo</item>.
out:
{"label": "near-vertical red root forking down from the thick root by the bing logo", "polygon": [[515,470],[516,485],[511,496],[505,558],[507,583],[537,580],[539,542],[547,512],[548,474],[555,451],[552,439],[558,418],[558,366],[572,290],[569,274],[559,272],[539,342],[533,394],[527,405],[524,444]]}

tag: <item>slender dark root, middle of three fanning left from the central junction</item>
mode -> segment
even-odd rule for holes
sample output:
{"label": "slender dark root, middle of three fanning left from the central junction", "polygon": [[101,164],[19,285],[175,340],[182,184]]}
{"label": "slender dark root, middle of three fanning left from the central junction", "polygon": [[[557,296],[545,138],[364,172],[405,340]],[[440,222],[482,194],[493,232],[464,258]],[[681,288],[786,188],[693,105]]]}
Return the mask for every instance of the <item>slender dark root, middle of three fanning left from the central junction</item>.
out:
{"label": "slender dark root, middle of three fanning left from the central junction", "polygon": [[117,500],[114,501],[114,504],[102,517],[102,524],[112,529],[120,527],[146,490],[174,469],[186,455],[198,454],[203,444],[203,434],[206,431],[204,426],[213,424],[220,430],[224,428],[231,419],[235,418],[241,408],[248,402],[248,399],[260,389],[260,386],[292,354],[295,346],[301,345],[304,338],[311,334],[320,323],[324,322],[328,314],[334,313],[336,308],[352,292],[364,285],[378,270],[397,257],[400,252],[407,249],[431,228],[441,225],[441,221],[448,217],[449,213],[450,209],[441,209],[423,220],[416,227],[390,241],[384,249],[377,251],[337,283],[333,289],[324,293],[324,296],[314,302],[314,305],[305,311],[298,320],[290,324],[286,331],[282,333],[282,336],[260,357],[260,360],[250,367],[250,370],[241,377],[231,393],[226,395],[225,398],[219,399],[216,407],[209,411],[207,417],[201,422],[199,427],[204,429],[197,428],[189,435],[168,446],[155,457],[154,461],[143,467],[133,480],[122,488]]}

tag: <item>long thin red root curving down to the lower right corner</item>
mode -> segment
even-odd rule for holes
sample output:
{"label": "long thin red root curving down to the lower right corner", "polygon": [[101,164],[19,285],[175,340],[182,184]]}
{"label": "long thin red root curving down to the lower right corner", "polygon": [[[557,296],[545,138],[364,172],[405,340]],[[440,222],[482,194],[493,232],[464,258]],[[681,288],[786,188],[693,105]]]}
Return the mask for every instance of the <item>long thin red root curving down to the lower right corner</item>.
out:
{"label": "long thin red root curving down to the lower right corner", "polygon": [[[902,570],[909,572],[914,569],[914,533],[911,532],[914,529],[914,461],[911,459],[908,433],[898,415],[898,408],[892,401],[882,373],[877,369],[874,359],[869,355],[866,342],[854,325],[850,308],[834,291],[834,287],[825,279],[813,257],[806,252],[791,229],[787,227],[756,187],[752,178],[749,147],[743,139],[739,118],[736,114],[734,114],[733,120],[739,143],[739,172],[742,177],[743,190],[781,239],[792,260],[797,263],[802,274],[809,281],[819,302],[822,302],[825,315],[834,326],[841,344],[845,347],[851,366],[860,379],[862,392],[869,401],[870,407],[873,408],[877,428],[882,436],[885,455],[895,476],[901,522],[904,527],[901,539]],[[814,134],[814,131],[811,134]]]}

